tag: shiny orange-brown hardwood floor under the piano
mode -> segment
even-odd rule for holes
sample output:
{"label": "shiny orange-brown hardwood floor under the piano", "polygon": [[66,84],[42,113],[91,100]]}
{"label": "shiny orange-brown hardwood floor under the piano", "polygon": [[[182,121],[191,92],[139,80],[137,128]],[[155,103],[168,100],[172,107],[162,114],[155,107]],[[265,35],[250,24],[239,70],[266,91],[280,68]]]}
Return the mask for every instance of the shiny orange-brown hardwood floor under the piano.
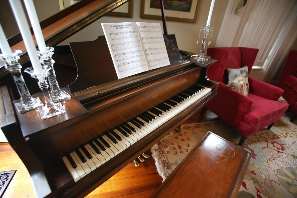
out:
{"label": "shiny orange-brown hardwood floor under the piano", "polygon": [[[197,112],[183,124],[214,119],[217,119],[217,116],[207,110],[204,116]],[[146,154],[151,155],[150,151]],[[0,143],[0,171],[7,170],[17,171],[3,198],[35,197],[28,170],[8,143]],[[141,162],[139,167],[135,167],[134,163],[127,165],[86,197],[145,198],[149,197],[161,185],[161,181],[162,178],[157,173],[155,161],[150,157]]]}

